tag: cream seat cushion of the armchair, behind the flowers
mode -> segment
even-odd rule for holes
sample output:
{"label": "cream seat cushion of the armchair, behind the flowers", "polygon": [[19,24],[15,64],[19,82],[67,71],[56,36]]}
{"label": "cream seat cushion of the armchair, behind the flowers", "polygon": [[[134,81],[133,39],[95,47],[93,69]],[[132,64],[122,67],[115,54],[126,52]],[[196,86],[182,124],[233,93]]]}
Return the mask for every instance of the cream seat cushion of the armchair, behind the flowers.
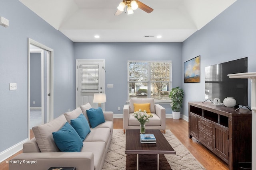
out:
{"label": "cream seat cushion of the armchair, behind the flowers", "polygon": [[[130,113],[128,125],[139,126],[140,122]],[[161,126],[161,119],[156,115],[156,113],[151,113],[153,117],[149,118],[149,122],[146,123],[146,126]]]}

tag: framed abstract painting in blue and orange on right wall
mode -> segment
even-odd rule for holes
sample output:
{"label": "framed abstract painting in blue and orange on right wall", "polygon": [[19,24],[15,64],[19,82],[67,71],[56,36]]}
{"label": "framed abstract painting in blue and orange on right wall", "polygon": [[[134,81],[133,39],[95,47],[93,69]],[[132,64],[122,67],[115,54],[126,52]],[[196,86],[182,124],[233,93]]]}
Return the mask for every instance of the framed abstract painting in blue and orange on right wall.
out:
{"label": "framed abstract painting in blue and orange on right wall", "polygon": [[200,82],[200,55],[184,63],[184,83]]}

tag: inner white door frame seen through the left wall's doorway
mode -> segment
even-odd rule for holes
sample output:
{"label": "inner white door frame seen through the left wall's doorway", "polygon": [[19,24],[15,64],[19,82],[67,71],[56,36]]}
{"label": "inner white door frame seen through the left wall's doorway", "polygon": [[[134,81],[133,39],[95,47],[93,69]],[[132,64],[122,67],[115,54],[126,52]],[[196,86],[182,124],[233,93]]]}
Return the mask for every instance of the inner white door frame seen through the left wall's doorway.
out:
{"label": "inner white door frame seen through the left wall's doorway", "polygon": [[30,53],[41,53],[41,123],[44,123],[44,50],[30,49]]}

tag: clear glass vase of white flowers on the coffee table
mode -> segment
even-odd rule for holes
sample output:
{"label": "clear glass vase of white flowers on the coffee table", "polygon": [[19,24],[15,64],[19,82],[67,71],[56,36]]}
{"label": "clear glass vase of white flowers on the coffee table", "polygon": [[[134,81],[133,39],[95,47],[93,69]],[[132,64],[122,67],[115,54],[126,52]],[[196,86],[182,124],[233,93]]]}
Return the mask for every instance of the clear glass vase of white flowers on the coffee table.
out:
{"label": "clear glass vase of white flowers on the coffee table", "polygon": [[141,109],[139,109],[139,111],[135,111],[132,115],[140,122],[140,133],[146,133],[145,124],[150,121],[149,118],[153,117],[153,115],[151,113],[147,113],[146,110],[142,112]]}

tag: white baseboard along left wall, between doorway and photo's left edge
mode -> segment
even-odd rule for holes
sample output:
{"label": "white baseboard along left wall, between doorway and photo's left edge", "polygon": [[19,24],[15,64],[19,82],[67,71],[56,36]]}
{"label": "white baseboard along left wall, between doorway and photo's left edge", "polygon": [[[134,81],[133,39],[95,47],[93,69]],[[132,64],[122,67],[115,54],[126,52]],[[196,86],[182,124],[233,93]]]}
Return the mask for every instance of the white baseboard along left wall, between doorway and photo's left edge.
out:
{"label": "white baseboard along left wall, between doorway and photo's left edge", "polygon": [[4,150],[0,153],[0,162],[3,162],[4,160],[8,159],[13,154],[17,153],[18,151],[22,150],[23,144],[28,141],[28,138],[21,141],[20,143],[17,143],[16,145],[13,145],[12,147]]}

